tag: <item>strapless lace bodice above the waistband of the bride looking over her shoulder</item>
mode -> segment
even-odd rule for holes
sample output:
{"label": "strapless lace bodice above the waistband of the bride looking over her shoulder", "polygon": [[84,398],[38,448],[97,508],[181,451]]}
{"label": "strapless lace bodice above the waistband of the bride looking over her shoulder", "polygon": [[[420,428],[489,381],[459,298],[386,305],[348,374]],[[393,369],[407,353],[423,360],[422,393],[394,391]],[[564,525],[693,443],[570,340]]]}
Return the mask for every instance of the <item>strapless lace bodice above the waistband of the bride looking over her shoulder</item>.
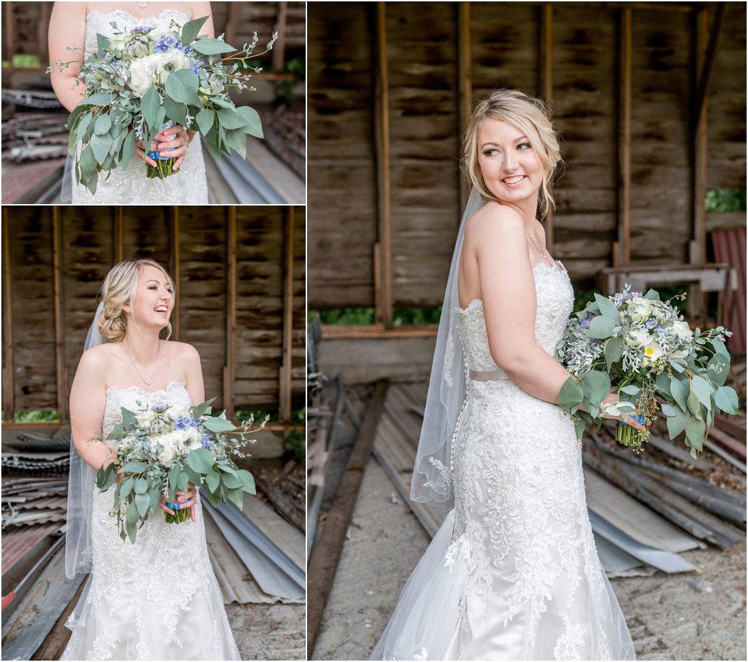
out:
{"label": "strapless lace bodice above the waistband of the bride looking over her shoulder", "polygon": [[[545,262],[533,267],[535,296],[536,342],[549,354],[556,353],[566,321],[574,308],[574,288],[568,273]],[[483,317],[483,302],[475,299],[465,309],[457,309],[457,328],[465,350],[465,367],[470,370],[497,371],[491,350],[488,347],[488,332]]]}

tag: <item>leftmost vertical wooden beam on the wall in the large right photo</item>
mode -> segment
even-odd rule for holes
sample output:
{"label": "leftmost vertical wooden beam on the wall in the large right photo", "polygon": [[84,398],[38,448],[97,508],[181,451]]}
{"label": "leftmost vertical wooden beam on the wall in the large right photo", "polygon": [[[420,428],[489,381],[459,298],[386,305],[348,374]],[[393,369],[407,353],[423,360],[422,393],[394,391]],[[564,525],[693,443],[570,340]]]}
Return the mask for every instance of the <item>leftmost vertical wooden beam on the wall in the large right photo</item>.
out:
{"label": "leftmost vertical wooden beam on the wall in the large right photo", "polygon": [[390,199],[390,83],[387,69],[387,8],[376,4],[376,162],[381,256],[381,304],[376,316],[392,323],[392,210]]}

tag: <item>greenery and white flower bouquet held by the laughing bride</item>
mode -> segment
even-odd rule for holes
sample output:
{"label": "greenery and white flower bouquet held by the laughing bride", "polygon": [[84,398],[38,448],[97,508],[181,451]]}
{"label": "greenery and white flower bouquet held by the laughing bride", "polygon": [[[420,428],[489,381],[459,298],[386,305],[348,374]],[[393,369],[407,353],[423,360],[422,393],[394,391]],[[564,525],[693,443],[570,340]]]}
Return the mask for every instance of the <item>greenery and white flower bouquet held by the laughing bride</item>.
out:
{"label": "greenery and white flower bouquet held by the laughing bride", "polygon": [[[124,474],[114,490],[113,507],[123,540],[129,536],[135,542],[138,522],[142,526],[156,514],[161,495],[174,501],[177,490],[184,492],[187,483],[200,486],[204,482],[213,506],[230,500],[242,507],[243,492],[255,493],[252,474],[237,468],[230,458],[231,454],[245,457],[239,448],[250,434],[253,418],[236,427],[227,421],[225,412],[210,415],[213,400],[186,410],[155,405],[135,413],[122,408],[122,424],[108,435],[120,440],[117,460],[99,469],[96,486],[105,492],[114,485],[117,472]],[[187,510],[165,513],[168,523],[186,519]]]}

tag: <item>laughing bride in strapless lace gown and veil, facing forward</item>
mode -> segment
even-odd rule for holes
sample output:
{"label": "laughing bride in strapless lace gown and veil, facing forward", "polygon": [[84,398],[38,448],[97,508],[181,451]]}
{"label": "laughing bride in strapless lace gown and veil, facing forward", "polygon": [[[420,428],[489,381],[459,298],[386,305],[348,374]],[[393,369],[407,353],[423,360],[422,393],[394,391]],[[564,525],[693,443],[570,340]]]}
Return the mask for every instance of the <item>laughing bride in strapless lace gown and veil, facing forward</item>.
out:
{"label": "laughing bride in strapless lace gown and veil, facing forward", "polygon": [[[106,436],[122,407],[187,408],[205,400],[200,356],[171,335],[174,282],[150,259],[120,262],[102,285],[86,350],[70,391],[70,489],[65,569],[91,572],[67,626],[62,660],[239,660],[210,565],[194,485],[165,513],[191,510],[191,522],[160,513],[123,541],[110,514],[114,490],[99,492],[94,471],[116,457]],[[102,441],[94,438],[103,434]]]}

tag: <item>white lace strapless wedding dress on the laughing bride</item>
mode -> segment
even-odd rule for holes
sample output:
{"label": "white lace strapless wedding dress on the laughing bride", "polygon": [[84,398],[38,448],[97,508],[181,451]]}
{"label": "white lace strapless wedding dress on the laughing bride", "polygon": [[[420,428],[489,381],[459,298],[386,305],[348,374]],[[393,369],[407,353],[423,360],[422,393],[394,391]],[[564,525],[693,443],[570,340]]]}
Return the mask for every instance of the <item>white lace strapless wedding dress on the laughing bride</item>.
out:
{"label": "white lace strapless wedding dress on the laughing bride", "polygon": [[[155,392],[111,386],[103,433],[122,422],[122,407],[138,411],[157,403],[192,404],[183,382]],[[60,659],[241,659],[210,565],[199,498],[196,522],[166,524],[159,510],[134,544],[120,538],[109,515],[113,499],[113,488],[94,489],[93,570],[66,624],[73,635]]]}

